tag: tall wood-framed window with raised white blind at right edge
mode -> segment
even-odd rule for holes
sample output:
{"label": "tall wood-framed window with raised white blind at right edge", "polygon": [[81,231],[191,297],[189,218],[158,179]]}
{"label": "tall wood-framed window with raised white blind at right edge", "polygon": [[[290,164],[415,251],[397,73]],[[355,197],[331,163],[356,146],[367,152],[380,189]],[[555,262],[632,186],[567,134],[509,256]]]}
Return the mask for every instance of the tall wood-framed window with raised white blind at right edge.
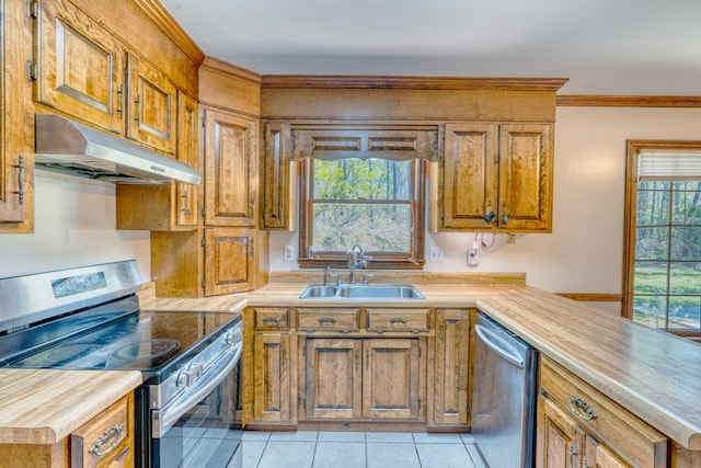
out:
{"label": "tall wood-framed window with raised white blind at right edge", "polygon": [[701,335],[701,141],[629,141],[625,316]]}

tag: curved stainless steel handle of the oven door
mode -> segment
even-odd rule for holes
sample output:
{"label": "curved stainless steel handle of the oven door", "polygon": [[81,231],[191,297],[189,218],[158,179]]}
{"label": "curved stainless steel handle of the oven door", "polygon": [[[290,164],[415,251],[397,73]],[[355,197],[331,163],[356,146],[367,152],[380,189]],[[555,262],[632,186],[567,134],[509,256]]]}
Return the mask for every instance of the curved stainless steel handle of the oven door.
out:
{"label": "curved stainless steel handle of the oven door", "polygon": [[[237,343],[229,359],[222,359],[222,364],[217,364],[215,368],[207,373],[207,376],[214,376],[212,378],[203,378],[204,385],[202,387],[194,388],[191,392],[184,396],[183,400],[175,400],[168,407],[161,410],[153,410],[152,412],[152,437],[160,438],[175,422],[187,412],[192,407],[199,402],[203,398],[209,395],[215,388],[217,388],[225,378],[235,367],[241,358],[241,352],[243,351],[243,343]],[[204,376],[203,376],[204,377]]]}

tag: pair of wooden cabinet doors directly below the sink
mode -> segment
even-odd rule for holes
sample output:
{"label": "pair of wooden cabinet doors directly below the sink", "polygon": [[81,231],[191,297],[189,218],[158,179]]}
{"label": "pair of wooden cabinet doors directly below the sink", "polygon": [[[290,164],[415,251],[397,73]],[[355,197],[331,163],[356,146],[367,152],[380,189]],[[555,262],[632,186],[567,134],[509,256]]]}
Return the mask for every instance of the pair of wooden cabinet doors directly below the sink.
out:
{"label": "pair of wooden cabinet doors directly below the sink", "polygon": [[301,341],[303,420],[425,419],[425,339]]}

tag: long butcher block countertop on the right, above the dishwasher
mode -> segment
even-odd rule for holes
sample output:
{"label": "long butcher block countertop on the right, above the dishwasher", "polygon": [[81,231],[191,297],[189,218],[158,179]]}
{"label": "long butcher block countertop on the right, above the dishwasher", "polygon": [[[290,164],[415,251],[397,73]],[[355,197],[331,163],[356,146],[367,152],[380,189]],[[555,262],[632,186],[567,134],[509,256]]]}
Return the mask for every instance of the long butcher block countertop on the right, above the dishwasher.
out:
{"label": "long butcher block countertop on the right, above the dishwasher", "polygon": [[478,307],[679,445],[701,449],[701,345],[532,288]]}

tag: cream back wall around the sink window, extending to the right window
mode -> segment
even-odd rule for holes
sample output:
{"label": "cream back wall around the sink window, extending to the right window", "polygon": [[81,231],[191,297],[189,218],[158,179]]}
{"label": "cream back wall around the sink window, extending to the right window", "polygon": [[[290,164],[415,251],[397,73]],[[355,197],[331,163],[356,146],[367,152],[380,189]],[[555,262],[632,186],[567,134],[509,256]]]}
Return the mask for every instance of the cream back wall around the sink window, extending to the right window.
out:
{"label": "cream back wall around the sink window, extending to the right window", "polygon": [[[553,232],[515,244],[498,236],[475,267],[467,265],[474,233],[428,233],[426,252],[438,246],[445,261],[426,271],[526,272],[529,285],[553,293],[621,293],[625,140],[701,140],[701,109],[559,107],[556,118]],[[297,237],[271,235],[271,270],[294,269],[286,244]]]}

